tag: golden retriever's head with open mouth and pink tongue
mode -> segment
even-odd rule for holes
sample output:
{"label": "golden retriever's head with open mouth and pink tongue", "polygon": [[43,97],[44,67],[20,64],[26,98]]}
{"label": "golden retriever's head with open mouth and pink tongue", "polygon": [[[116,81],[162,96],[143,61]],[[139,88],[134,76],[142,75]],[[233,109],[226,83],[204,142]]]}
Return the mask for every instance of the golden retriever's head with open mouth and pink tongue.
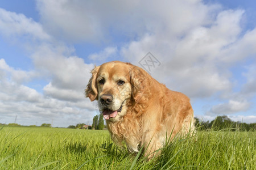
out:
{"label": "golden retriever's head with open mouth and pink tongue", "polygon": [[91,101],[98,100],[106,120],[118,121],[127,112],[127,102],[142,91],[141,68],[119,61],[104,63],[92,70],[85,90]]}

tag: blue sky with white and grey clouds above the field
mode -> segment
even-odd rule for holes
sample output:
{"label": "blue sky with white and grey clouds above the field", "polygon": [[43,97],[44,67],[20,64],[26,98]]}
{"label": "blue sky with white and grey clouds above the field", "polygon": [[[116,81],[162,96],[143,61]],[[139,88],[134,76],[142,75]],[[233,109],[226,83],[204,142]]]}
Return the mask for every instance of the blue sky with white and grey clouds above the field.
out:
{"label": "blue sky with white and grey clouds above the field", "polygon": [[256,122],[255,1],[0,1],[0,122],[91,124],[94,65],[139,65],[195,116]]}

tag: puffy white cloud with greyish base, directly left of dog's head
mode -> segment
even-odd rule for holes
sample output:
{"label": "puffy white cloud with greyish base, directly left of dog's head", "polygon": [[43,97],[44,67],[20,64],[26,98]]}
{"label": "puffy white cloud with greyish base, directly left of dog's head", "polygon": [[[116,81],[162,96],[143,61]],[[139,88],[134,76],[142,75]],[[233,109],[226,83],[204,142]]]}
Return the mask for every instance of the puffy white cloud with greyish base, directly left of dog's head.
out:
{"label": "puffy white cloud with greyish base, directly left of dog's head", "polygon": [[43,88],[44,94],[59,100],[84,100],[84,90],[94,66],[79,57],[65,57],[63,53],[65,50],[41,46],[32,55],[36,68],[51,78]]}

